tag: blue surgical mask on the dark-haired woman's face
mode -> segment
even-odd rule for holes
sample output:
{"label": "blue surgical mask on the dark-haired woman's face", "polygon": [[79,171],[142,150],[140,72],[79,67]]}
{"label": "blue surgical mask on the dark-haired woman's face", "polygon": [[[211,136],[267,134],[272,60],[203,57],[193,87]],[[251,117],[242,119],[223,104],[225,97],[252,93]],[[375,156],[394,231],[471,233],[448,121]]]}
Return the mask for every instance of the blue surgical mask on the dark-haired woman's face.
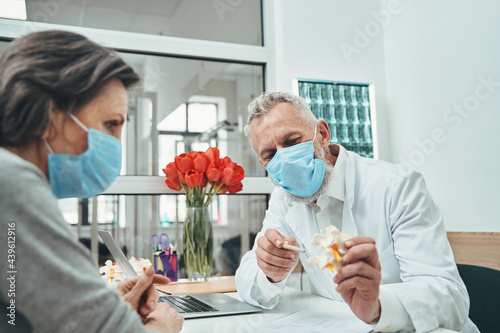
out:
{"label": "blue surgical mask on the dark-haired woman's face", "polygon": [[50,151],[50,187],[59,199],[90,198],[104,192],[120,174],[122,143],[109,134],[87,128],[75,116],[70,117],[87,132],[88,149],[78,156],[57,154],[45,141]]}

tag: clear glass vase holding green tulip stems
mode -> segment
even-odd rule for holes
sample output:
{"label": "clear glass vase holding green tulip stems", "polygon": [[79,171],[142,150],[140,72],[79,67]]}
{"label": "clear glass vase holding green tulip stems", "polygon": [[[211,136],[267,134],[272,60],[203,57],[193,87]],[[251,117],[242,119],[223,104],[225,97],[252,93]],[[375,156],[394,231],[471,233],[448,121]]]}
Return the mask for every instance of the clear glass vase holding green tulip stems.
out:
{"label": "clear glass vase holding green tulip stems", "polygon": [[188,207],[182,237],[188,279],[206,281],[212,272],[214,237],[208,207]]}

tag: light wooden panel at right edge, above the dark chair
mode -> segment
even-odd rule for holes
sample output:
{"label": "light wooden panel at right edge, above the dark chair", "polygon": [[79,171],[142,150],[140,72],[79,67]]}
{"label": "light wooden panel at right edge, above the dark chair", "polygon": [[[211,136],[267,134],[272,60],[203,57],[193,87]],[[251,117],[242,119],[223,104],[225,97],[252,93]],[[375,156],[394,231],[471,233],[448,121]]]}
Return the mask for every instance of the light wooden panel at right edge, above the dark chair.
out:
{"label": "light wooden panel at right edge, above the dark chair", "polygon": [[448,232],[455,262],[500,270],[500,232]]}

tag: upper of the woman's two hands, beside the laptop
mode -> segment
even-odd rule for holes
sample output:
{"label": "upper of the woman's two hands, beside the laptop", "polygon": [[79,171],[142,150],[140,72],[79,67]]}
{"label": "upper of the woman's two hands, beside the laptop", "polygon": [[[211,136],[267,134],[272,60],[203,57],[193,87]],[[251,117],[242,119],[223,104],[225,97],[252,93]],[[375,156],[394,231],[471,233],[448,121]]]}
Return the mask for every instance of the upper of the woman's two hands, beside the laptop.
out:
{"label": "upper of the woman's two hands, beside the laptop", "polygon": [[159,294],[154,283],[167,284],[169,282],[169,278],[155,275],[153,268],[149,267],[144,274],[120,282],[116,291],[125,301],[132,304],[132,308],[144,319],[158,307]]}

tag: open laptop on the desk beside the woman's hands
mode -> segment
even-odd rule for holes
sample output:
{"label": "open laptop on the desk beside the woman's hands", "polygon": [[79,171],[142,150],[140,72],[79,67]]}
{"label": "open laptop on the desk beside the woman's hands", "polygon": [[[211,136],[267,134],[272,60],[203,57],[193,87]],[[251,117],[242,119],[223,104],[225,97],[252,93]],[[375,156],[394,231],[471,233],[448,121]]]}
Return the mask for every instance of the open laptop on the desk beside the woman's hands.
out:
{"label": "open laptop on the desk beside the woman's hands", "polygon": [[[108,247],[109,252],[111,252],[116,262],[122,268],[125,276],[127,278],[137,276],[137,272],[127,260],[127,257],[125,257],[125,254],[111,233],[106,230],[98,230],[98,233],[104,241],[104,244]],[[170,306],[179,311],[185,319],[228,316],[262,311],[261,308],[241,302],[231,296],[221,293],[196,294],[195,296],[161,295],[158,302],[170,304]]]}

